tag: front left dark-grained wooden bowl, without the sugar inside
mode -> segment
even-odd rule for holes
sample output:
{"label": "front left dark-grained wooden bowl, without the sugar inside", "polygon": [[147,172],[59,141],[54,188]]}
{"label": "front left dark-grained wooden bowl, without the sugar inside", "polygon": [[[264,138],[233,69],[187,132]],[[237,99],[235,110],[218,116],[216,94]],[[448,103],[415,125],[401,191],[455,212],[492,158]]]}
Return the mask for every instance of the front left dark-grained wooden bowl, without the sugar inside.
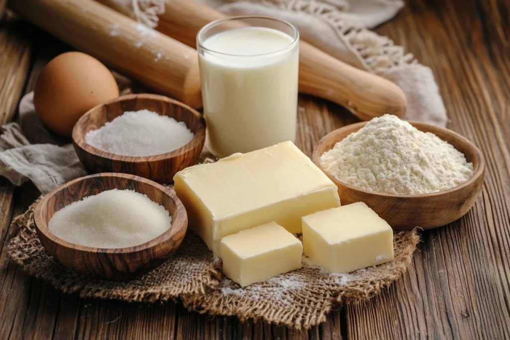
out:
{"label": "front left dark-grained wooden bowl, without the sugar inside", "polygon": [[[171,227],[146,243],[116,249],[69,243],[49,231],[49,220],[64,206],[111,189],[130,189],[147,195],[170,213]],[[151,180],[121,173],[101,173],[67,182],[37,204],[34,220],[42,245],[64,267],[107,280],[130,279],[158,267],[179,248],[188,227],[186,210],[170,190]]]}

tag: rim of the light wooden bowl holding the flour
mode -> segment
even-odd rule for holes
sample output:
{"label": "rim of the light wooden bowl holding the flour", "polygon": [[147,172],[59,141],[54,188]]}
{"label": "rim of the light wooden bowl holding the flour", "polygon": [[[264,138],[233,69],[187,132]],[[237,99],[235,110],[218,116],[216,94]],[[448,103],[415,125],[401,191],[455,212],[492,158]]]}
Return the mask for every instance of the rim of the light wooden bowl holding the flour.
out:
{"label": "rim of the light wooden bowl holding the flour", "polygon": [[[342,186],[344,186],[344,187],[346,187],[348,189],[351,189],[353,191],[358,191],[360,193],[364,193],[364,194],[367,194],[367,195],[380,196],[381,198],[382,197],[385,197],[385,198],[428,198],[428,197],[438,197],[438,196],[441,196],[441,195],[450,194],[450,193],[453,193],[455,191],[462,190],[463,188],[466,188],[466,187],[472,185],[476,180],[479,179],[480,176],[483,176],[484,171],[485,171],[485,167],[486,167],[485,159],[483,157],[483,154],[481,153],[480,149],[476,145],[474,145],[470,140],[468,140],[466,137],[464,137],[464,136],[462,136],[462,135],[460,135],[460,134],[458,134],[458,133],[456,133],[456,132],[454,132],[454,131],[446,128],[446,127],[432,125],[432,124],[428,124],[428,123],[424,123],[424,122],[420,122],[420,121],[415,121],[415,120],[404,120],[404,121],[410,123],[411,125],[413,125],[414,127],[416,127],[420,131],[422,131],[421,128],[426,126],[427,130],[430,131],[430,132],[432,132],[434,130],[441,131],[445,135],[453,136],[456,139],[459,139],[459,140],[465,142],[466,145],[468,146],[468,148],[472,150],[472,153],[476,154],[476,156],[478,158],[478,163],[476,164],[476,167],[473,169],[473,175],[471,177],[469,177],[469,179],[467,181],[465,181],[464,183],[462,183],[462,184],[460,184],[458,186],[455,186],[453,188],[447,189],[447,190],[442,190],[442,191],[437,191],[437,192],[427,193],[427,194],[418,194],[418,195],[392,195],[392,194],[385,194],[385,193],[378,193],[378,192],[373,192],[373,191],[367,191],[367,190],[360,189],[358,187],[354,187],[354,186],[348,185],[347,183],[337,179],[333,174],[331,174],[331,173],[327,172],[326,170],[324,170],[322,168],[321,164],[320,164],[320,156],[322,155],[322,153],[324,153],[326,151],[329,151],[330,149],[326,150],[326,151],[323,151],[321,154],[319,154],[320,149],[322,149],[322,145],[325,144],[326,142],[329,142],[330,139],[336,138],[338,135],[340,135],[341,133],[344,133],[346,131],[350,131],[349,134],[351,134],[353,132],[357,132],[362,127],[364,127],[366,124],[368,124],[369,121],[364,121],[364,122],[359,122],[359,123],[354,123],[354,124],[349,124],[349,125],[342,126],[340,128],[337,128],[337,129],[331,131],[330,133],[328,133],[324,137],[322,137],[319,140],[319,142],[315,145],[315,147],[313,149],[313,152],[312,152],[312,161],[314,162],[315,165],[317,165],[319,167],[319,169],[323,173],[325,173],[331,180],[333,180],[337,186],[338,186],[338,184],[340,184],[340,185],[342,185]],[[436,134],[434,133],[434,135],[436,135]],[[344,137],[344,139],[347,136],[348,135],[346,135]],[[442,139],[441,137],[439,137],[439,136],[437,136],[437,137],[444,141],[444,139]],[[335,144],[340,142],[341,140],[342,139],[337,139],[335,141]],[[333,145],[335,145],[335,144],[333,144]],[[449,143],[449,144],[451,144],[451,143]],[[451,145],[453,145],[453,144],[451,144]],[[455,145],[453,145],[453,147],[457,151],[459,151],[462,154],[464,154],[464,156],[466,156],[466,154],[464,152],[458,150],[455,147]]]}

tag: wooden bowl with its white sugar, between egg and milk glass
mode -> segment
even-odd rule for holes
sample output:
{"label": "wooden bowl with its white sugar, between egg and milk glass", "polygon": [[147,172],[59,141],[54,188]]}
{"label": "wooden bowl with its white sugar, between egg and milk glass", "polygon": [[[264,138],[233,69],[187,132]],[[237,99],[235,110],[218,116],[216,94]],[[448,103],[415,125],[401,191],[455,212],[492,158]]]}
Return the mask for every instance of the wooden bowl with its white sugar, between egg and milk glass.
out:
{"label": "wooden bowl with its white sugar, between egg and milk glass", "polygon": [[87,172],[130,173],[159,183],[193,165],[205,140],[206,121],[196,110],[155,94],[100,104],[72,130],[74,150]]}

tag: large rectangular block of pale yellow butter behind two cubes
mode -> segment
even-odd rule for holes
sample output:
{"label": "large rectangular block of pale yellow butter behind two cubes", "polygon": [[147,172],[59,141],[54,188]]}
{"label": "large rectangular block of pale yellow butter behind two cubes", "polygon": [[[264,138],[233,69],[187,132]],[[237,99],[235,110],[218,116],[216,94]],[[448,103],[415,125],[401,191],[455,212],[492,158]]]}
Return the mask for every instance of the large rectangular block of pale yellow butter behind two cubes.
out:
{"label": "large rectangular block of pale yellow butter behind two cubes", "polygon": [[292,142],[177,172],[189,227],[218,254],[222,237],[275,221],[301,232],[301,217],[340,206],[335,184]]}

